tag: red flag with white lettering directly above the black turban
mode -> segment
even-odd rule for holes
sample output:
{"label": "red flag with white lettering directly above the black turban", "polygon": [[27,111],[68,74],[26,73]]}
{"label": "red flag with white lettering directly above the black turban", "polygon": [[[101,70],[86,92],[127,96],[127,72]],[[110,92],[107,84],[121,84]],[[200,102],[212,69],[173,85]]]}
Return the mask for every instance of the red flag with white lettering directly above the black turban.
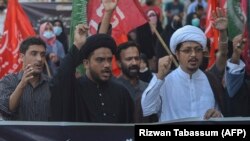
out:
{"label": "red flag with white lettering directly above the black turban", "polygon": [[[87,13],[90,33],[92,35],[96,34],[98,24],[101,22],[104,14],[104,6],[101,1],[89,1]],[[128,32],[146,22],[147,20],[138,0],[120,0],[111,20],[112,37],[115,39],[116,44],[126,42]],[[120,74],[120,70],[114,59],[112,69],[115,76]]]}

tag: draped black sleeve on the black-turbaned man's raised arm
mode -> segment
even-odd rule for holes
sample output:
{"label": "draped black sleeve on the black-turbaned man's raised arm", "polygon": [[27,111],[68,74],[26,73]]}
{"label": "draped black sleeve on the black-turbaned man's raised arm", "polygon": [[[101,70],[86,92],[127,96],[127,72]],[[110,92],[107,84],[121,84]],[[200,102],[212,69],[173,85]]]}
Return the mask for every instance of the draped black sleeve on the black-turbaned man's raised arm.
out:
{"label": "draped black sleeve on the black-turbaned man's raised arm", "polygon": [[73,46],[60,62],[50,82],[51,121],[75,121],[75,68],[80,64],[80,51]]}

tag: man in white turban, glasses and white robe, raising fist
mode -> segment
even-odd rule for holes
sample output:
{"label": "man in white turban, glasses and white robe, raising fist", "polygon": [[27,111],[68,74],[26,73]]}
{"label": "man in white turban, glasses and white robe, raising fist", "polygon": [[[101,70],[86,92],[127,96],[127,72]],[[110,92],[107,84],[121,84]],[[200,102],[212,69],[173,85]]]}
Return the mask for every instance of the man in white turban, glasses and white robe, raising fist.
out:
{"label": "man in white turban, glasses and white robe, raising fist", "polygon": [[184,26],[171,37],[170,49],[180,66],[170,71],[173,56],[159,60],[158,73],[143,92],[143,115],[157,113],[159,121],[199,117],[221,117],[218,99],[210,78],[199,69],[206,36],[194,26]]}

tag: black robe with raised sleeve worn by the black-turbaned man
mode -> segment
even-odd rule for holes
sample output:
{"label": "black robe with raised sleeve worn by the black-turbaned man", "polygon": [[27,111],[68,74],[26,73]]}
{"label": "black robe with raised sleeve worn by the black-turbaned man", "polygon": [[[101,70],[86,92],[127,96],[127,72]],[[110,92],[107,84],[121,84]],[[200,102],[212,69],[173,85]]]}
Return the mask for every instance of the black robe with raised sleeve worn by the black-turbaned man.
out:
{"label": "black robe with raised sleeve worn by the black-turbaned man", "polygon": [[126,88],[116,80],[111,79],[98,86],[86,76],[78,80],[75,78],[75,68],[82,60],[81,54],[73,46],[51,81],[51,120],[133,122],[133,101]]}

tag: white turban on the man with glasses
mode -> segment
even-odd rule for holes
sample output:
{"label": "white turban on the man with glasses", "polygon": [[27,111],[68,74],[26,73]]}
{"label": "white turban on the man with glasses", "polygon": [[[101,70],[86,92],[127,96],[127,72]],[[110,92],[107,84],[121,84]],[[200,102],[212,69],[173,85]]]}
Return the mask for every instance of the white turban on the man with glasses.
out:
{"label": "white turban on the man with glasses", "polygon": [[186,41],[197,42],[202,46],[203,49],[205,49],[207,45],[207,38],[200,28],[186,25],[176,30],[172,35],[170,39],[170,49],[172,53],[175,54],[176,47],[179,43]]}

